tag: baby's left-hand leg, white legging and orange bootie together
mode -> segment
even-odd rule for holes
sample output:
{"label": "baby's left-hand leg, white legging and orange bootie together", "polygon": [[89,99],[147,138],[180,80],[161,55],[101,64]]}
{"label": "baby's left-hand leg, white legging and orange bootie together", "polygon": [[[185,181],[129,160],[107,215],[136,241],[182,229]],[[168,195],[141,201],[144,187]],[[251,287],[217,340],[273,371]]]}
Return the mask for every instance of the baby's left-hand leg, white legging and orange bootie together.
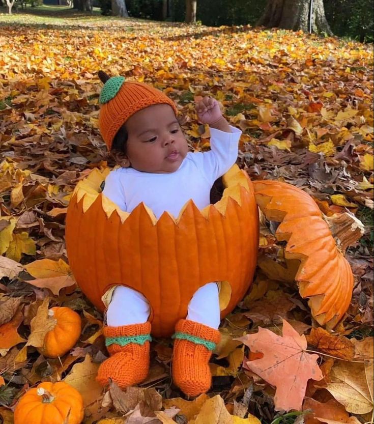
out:
{"label": "baby's left-hand leg, white legging and orange bootie together", "polygon": [[120,387],[140,383],[148,375],[151,323],[147,299],[135,290],[114,289],[106,313],[105,345],[110,357],[99,368],[97,380],[106,385],[112,379]]}

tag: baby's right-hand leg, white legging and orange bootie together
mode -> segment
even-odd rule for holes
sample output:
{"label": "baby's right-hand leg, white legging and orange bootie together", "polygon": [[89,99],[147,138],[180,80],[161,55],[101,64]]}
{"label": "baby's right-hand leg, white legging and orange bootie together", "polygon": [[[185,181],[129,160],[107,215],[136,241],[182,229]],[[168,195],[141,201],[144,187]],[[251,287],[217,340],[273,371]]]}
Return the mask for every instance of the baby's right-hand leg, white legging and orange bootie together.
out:
{"label": "baby's right-hand leg, white legging and orange bootie together", "polygon": [[220,341],[218,287],[211,282],[193,295],[187,319],[178,321],[172,377],[186,394],[207,392],[212,384],[209,359]]}

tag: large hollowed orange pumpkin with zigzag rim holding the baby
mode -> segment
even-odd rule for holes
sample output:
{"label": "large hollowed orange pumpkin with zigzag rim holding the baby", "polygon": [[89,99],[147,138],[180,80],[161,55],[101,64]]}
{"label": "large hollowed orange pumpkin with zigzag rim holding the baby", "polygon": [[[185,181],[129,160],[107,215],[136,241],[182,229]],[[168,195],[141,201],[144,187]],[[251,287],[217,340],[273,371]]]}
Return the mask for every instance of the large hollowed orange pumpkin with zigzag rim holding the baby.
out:
{"label": "large hollowed orange pumpkin with zigzag rim holding the baby", "polygon": [[165,212],[157,220],[142,203],[129,214],[100,193],[108,173],[94,169],[68,207],[66,246],[83,293],[103,310],[101,297],[113,285],[141,292],[155,336],[171,335],[193,294],[211,281],[223,282],[222,316],[231,312],[257,261],[258,211],[247,174],[234,165],[219,202],[200,211],[189,201],[177,219]]}

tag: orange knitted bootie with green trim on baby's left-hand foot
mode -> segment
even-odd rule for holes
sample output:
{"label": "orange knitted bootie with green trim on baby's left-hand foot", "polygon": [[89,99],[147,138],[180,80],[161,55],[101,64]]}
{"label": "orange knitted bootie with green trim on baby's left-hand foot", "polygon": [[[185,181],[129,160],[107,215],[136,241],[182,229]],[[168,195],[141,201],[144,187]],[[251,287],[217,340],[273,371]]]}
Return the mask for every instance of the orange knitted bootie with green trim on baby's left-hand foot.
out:
{"label": "orange knitted bootie with green trim on baby's left-hand foot", "polygon": [[121,388],[145,380],[150,362],[151,323],[104,327],[110,357],[99,367],[96,380],[105,386],[111,378]]}

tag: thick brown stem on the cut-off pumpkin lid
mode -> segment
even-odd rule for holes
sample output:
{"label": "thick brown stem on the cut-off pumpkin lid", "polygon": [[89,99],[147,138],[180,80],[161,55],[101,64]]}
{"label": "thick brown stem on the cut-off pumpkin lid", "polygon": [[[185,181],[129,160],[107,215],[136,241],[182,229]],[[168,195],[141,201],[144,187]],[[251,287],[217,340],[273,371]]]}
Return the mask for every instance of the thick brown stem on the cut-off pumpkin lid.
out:
{"label": "thick brown stem on the cut-off pumpkin lid", "polygon": [[339,250],[344,254],[348,246],[359,240],[364,232],[363,223],[348,212],[325,216]]}

